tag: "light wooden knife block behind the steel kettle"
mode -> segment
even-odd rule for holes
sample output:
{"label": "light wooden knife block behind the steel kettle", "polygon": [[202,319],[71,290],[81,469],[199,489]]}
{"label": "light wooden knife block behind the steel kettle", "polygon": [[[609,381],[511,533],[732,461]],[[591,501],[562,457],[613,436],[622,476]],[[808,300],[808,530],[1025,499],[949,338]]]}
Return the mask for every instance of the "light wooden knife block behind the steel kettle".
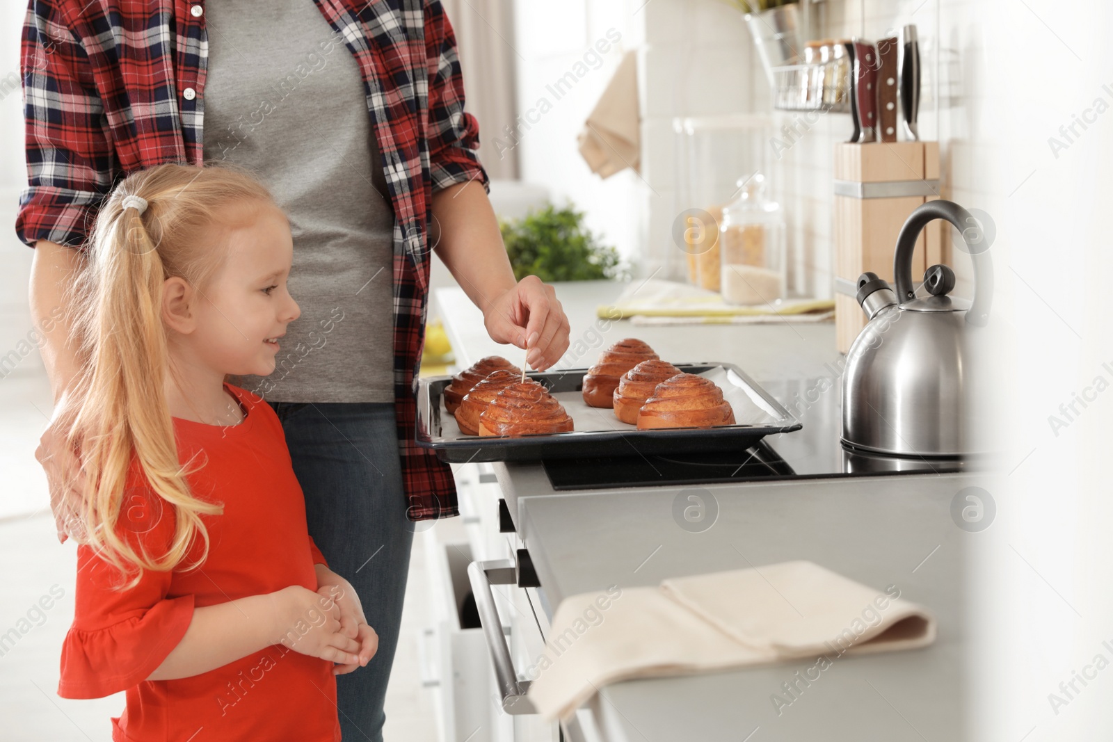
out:
{"label": "light wooden knife block behind the steel kettle", "polygon": [[[871,141],[835,146],[835,335],[847,353],[866,326],[855,299],[858,276],[894,283],[893,253],[916,207],[939,197],[939,142]],[[939,221],[928,224],[913,254],[913,283],[945,263]]]}

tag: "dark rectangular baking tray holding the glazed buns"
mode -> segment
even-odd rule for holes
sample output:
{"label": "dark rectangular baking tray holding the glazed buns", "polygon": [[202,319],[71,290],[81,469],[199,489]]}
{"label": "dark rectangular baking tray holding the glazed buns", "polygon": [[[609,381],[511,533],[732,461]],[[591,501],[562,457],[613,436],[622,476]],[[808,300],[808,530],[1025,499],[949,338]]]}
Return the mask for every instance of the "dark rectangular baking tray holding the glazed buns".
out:
{"label": "dark rectangular baking tray holding the glazed buns", "polygon": [[[431,376],[418,379],[417,426],[418,445],[432,448],[441,461],[451,464],[469,462],[540,461],[541,458],[573,458],[577,456],[632,456],[649,454],[703,453],[711,451],[745,451],[767,435],[792,433],[804,427],[791,413],[768,392],[758,386],[741,368],[723,363],[673,364],[689,374],[717,373],[721,368],[733,387],[732,394],[745,393],[768,419],[743,425],[720,425],[711,428],[667,428],[639,431],[620,422],[614,414],[602,408],[587,408],[590,421],[578,419],[573,408],[580,409],[574,395],[582,393],[587,368],[528,373],[532,379],[549,388],[565,405],[577,429],[570,433],[524,435],[520,437],[464,435],[456,419],[444,408],[444,388],[451,376]],[[722,386],[722,384],[720,384]],[[728,392],[728,389],[725,389]],[[561,397],[564,396],[565,399]],[[729,396],[729,395],[728,395]],[[736,415],[738,409],[736,407]],[[580,429],[581,422],[605,429]]]}

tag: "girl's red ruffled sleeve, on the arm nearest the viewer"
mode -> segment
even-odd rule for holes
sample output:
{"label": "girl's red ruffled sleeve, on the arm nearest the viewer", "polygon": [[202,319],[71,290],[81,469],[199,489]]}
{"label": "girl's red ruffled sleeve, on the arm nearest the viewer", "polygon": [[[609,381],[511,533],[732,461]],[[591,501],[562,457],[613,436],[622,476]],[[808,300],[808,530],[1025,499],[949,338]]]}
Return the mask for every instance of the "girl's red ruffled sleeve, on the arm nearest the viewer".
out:
{"label": "girl's red ruffled sleeve, on the arm nearest the viewer", "polygon": [[[157,495],[135,493],[121,512],[121,535],[160,555],[173,535],[173,511],[152,507],[148,497]],[[158,517],[147,517],[152,512]],[[152,570],[144,570],[135,587],[114,590],[126,582],[117,567],[90,546],[78,546],[77,555],[73,623],[62,643],[58,695],[99,699],[137,685],[162,664],[193,621],[194,596],[168,596],[174,573]]]}

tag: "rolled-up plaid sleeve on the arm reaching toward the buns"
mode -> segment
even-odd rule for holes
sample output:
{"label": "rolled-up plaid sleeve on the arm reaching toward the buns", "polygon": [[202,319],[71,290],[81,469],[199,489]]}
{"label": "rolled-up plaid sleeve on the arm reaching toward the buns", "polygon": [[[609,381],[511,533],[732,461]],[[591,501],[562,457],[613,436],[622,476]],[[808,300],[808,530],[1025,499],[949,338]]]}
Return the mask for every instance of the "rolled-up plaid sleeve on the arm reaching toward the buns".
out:
{"label": "rolled-up plaid sleeve on the arm reaching toward the buns", "polygon": [[440,0],[425,3],[425,43],[430,65],[429,121],[433,191],[476,180],[491,192],[480,164],[480,125],[464,110],[464,78],[456,55],[456,37]]}

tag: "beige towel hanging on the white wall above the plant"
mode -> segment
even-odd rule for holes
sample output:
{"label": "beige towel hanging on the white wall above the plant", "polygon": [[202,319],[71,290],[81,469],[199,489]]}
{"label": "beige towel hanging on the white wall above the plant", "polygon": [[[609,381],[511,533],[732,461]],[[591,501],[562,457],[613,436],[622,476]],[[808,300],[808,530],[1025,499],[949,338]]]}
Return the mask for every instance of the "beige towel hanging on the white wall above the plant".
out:
{"label": "beige towel hanging on the white wall above the plant", "polygon": [[609,178],[623,168],[640,171],[638,57],[628,51],[577,138],[592,172]]}

